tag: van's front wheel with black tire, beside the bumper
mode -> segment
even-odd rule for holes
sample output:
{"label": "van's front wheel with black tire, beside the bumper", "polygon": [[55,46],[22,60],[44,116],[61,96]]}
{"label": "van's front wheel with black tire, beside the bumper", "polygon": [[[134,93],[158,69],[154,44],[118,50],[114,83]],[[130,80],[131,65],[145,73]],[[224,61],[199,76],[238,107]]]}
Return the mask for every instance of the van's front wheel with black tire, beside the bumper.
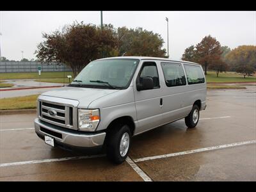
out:
{"label": "van's front wheel with black tire, beside the bumper", "polygon": [[[131,130],[128,125],[124,124],[115,124],[113,127],[109,128],[110,130],[107,133],[106,141],[107,157],[113,163],[121,164],[128,156],[131,146]],[[121,141],[124,141],[122,142],[122,147],[120,147]]]}

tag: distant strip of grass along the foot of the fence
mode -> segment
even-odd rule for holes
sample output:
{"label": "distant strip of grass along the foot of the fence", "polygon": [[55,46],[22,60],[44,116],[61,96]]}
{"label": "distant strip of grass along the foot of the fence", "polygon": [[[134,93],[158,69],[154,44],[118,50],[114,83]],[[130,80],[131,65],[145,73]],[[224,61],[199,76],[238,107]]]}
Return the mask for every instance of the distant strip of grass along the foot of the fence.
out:
{"label": "distant strip of grass along the foot of the fence", "polygon": [[1,79],[45,79],[45,78],[63,78],[73,76],[72,72],[20,72],[20,73],[1,73]]}

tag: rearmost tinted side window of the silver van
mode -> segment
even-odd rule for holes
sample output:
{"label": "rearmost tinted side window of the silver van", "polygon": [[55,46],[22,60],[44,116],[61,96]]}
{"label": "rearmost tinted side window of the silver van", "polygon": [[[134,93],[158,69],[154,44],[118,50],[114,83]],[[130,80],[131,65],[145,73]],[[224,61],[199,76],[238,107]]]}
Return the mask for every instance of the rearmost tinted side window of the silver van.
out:
{"label": "rearmost tinted side window of the silver van", "polygon": [[204,74],[200,66],[184,64],[184,68],[186,70],[188,84],[204,83]]}

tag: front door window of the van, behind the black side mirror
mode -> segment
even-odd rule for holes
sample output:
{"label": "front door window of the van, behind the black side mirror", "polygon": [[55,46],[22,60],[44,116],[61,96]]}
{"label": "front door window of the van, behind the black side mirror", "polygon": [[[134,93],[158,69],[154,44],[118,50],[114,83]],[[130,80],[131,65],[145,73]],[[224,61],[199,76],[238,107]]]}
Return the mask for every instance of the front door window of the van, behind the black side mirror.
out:
{"label": "front door window of the van, behind the black side mirror", "polygon": [[139,83],[142,83],[143,77],[152,77],[154,82],[154,89],[160,88],[159,77],[157,72],[157,67],[155,62],[145,62],[141,68]]}

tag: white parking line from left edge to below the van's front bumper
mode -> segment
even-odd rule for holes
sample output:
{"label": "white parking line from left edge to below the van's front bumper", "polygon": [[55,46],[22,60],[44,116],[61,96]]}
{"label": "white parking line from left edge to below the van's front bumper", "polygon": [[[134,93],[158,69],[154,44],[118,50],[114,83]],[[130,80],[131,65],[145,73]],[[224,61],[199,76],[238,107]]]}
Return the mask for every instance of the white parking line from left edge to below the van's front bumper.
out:
{"label": "white parking line from left edge to below the van's front bumper", "polygon": [[76,157],[63,157],[57,159],[42,159],[42,160],[32,160],[32,161],[19,161],[13,163],[1,163],[0,167],[3,166],[15,166],[15,165],[22,165],[22,164],[36,164],[36,163],[51,163],[57,161],[68,161],[68,160],[76,160],[76,159],[91,159],[95,157],[104,157],[105,154],[95,155],[95,156],[76,156]]}

